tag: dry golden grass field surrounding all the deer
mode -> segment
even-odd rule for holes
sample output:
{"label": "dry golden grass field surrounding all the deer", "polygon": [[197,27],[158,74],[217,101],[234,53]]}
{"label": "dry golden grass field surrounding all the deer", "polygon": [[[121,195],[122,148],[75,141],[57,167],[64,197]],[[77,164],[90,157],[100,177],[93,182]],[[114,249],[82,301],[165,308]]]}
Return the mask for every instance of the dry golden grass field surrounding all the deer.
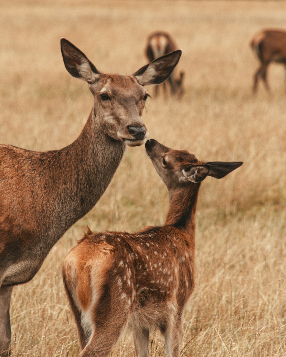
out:
{"label": "dry golden grass field surrounding all the deer", "polygon": [[[146,38],[168,31],[183,54],[183,99],[148,99],[149,138],[200,160],[244,161],[207,178],[197,209],[196,287],[182,356],[286,356],[286,83],[271,65],[272,95],[252,96],[262,28],[286,28],[285,1],[2,0],[0,141],[54,150],[79,135],[92,108],[87,85],[65,70],[60,38],[103,72],[131,74],[147,63]],[[148,90],[152,94],[153,88]],[[75,323],[61,265],[88,225],[135,232],[161,225],[167,189],[144,147],[127,148],[100,201],[53,247],[35,278],[14,288],[12,356],[77,356]],[[151,343],[152,341],[152,343]],[[151,332],[150,355],[164,356]],[[135,356],[132,336],[112,356]]]}

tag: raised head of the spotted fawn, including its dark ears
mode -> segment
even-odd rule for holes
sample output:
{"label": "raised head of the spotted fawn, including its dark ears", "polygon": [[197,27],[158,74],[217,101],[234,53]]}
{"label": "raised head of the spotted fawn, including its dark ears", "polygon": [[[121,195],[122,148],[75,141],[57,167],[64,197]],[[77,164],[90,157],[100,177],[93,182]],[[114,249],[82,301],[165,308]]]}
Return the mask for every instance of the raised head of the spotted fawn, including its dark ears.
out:
{"label": "raised head of the spotted fawn, including its dark ears", "polygon": [[145,148],[168,190],[201,182],[207,176],[222,178],[243,164],[241,161],[204,163],[186,150],[170,149],[154,139],[147,140]]}

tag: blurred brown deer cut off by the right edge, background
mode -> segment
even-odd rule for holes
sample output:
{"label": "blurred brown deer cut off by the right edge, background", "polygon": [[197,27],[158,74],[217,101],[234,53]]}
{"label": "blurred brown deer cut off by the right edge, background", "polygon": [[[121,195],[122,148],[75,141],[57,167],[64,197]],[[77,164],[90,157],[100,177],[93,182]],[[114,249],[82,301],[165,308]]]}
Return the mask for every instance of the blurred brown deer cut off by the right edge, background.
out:
{"label": "blurred brown deer cut off by the right edge, background", "polygon": [[256,93],[259,79],[263,80],[266,90],[269,91],[266,77],[268,65],[277,62],[286,66],[286,32],[263,30],[253,37],[250,45],[261,62],[254,75],[253,93]]}

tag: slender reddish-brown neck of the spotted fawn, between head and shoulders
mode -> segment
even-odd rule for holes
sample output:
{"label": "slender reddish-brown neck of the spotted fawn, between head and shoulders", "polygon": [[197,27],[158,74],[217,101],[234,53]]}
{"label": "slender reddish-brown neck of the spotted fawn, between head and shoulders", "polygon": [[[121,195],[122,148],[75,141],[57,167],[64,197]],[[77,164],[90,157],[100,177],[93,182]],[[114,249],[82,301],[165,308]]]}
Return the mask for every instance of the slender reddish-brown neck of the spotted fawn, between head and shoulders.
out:
{"label": "slender reddish-brown neck of the spotted fawn, between head and shoulders", "polygon": [[171,225],[191,234],[194,233],[197,198],[200,183],[169,190],[169,210],[165,225]]}

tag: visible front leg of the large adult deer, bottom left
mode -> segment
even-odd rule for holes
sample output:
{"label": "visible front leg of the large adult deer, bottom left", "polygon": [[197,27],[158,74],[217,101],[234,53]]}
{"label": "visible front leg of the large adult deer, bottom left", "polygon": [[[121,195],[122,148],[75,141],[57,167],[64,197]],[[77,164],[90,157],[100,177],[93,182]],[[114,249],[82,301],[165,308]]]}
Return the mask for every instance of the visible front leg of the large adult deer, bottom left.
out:
{"label": "visible front leg of the large adult deer, bottom left", "polygon": [[10,301],[13,286],[0,287],[0,357],[10,356]]}

